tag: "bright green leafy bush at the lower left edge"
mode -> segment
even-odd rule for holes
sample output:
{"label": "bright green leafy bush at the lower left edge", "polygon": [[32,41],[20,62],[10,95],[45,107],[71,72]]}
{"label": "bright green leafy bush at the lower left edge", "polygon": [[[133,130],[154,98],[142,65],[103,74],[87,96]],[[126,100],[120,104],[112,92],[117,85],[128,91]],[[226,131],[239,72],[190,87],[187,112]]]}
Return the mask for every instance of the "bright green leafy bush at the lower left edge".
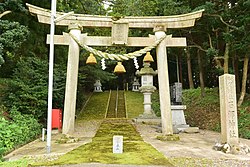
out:
{"label": "bright green leafy bush at the lower left edge", "polygon": [[32,115],[22,115],[12,107],[9,118],[0,115],[0,157],[40,134],[41,125]]}

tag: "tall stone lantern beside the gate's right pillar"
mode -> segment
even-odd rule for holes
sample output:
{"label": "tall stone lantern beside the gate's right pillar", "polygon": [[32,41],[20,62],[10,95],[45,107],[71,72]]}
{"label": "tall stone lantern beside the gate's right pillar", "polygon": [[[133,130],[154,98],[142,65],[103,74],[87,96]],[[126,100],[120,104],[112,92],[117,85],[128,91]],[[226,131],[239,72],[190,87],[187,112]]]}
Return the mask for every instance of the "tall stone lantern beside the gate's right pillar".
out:
{"label": "tall stone lantern beside the gate's right pillar", "polygon": [[143,68],[137,70],[136,75],[141,76],[141,87],[139,90],[144,95],[144,113],[141,117],[144,118],[155,118],[155,114],[151,108],[151,94],[156,90],[156,87],[153,85],[153,76],[157,74],[153,68],[150,67],[150,63],[153,62],[153,58],[150,55],[150,52],[147,52],[146,56],[143,59]]}

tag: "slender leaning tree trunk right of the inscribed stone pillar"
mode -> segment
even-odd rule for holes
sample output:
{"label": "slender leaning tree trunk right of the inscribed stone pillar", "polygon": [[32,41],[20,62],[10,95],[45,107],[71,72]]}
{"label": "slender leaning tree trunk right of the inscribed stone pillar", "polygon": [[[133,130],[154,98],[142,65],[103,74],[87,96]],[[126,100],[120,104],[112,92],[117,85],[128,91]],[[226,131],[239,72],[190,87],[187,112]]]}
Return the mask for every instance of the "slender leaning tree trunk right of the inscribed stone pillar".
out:
{"label": "slender leaning tree trunk right of the inscribed stone pillar", "polygon": [[249,57],[245,56],[244,58],[244,66],[243,66],[243,75],[242,75],[242,85],[241,85],[241,93],[240,98],[238,100],[238,107],[243,103],[245,94],[246,94],[246,83],[247,83],[247,71],[248,71],[248,61]]}

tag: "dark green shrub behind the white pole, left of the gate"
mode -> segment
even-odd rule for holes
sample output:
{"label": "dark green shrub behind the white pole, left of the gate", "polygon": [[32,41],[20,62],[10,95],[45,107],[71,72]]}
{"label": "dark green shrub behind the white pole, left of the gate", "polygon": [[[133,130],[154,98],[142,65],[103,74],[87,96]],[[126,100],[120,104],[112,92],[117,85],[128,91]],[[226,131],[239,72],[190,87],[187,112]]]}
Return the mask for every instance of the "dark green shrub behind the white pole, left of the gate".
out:
{"label": "dark green shrub behind the white pole, left of the gate", "polygon": [[[65,70],[55,65],[53,107],[63,106]],[[45,118],[48,94],[48,63],[34,57],[20,59],[5,92],[4,103],[9,109],[16,106],[23,114]]]}

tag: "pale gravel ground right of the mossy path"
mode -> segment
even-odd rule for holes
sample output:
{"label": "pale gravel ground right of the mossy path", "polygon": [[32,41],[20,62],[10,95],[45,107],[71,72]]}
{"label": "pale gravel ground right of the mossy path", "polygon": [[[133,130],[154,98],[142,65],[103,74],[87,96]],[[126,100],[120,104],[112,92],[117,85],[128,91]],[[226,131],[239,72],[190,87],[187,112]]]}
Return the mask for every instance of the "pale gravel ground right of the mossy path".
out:
{"label": "pale gravel ground right of the mossy path", "polygon": [[[145,142],[162,152],[170,162],[178,167],[250,167],[250,154],[233,155],[213,150],[220,134],[200,130],[199,133],[180,133],[180,141],[160,141],[155,126],[135,124]],[[250,140],[240,139],[250,145]]]}

